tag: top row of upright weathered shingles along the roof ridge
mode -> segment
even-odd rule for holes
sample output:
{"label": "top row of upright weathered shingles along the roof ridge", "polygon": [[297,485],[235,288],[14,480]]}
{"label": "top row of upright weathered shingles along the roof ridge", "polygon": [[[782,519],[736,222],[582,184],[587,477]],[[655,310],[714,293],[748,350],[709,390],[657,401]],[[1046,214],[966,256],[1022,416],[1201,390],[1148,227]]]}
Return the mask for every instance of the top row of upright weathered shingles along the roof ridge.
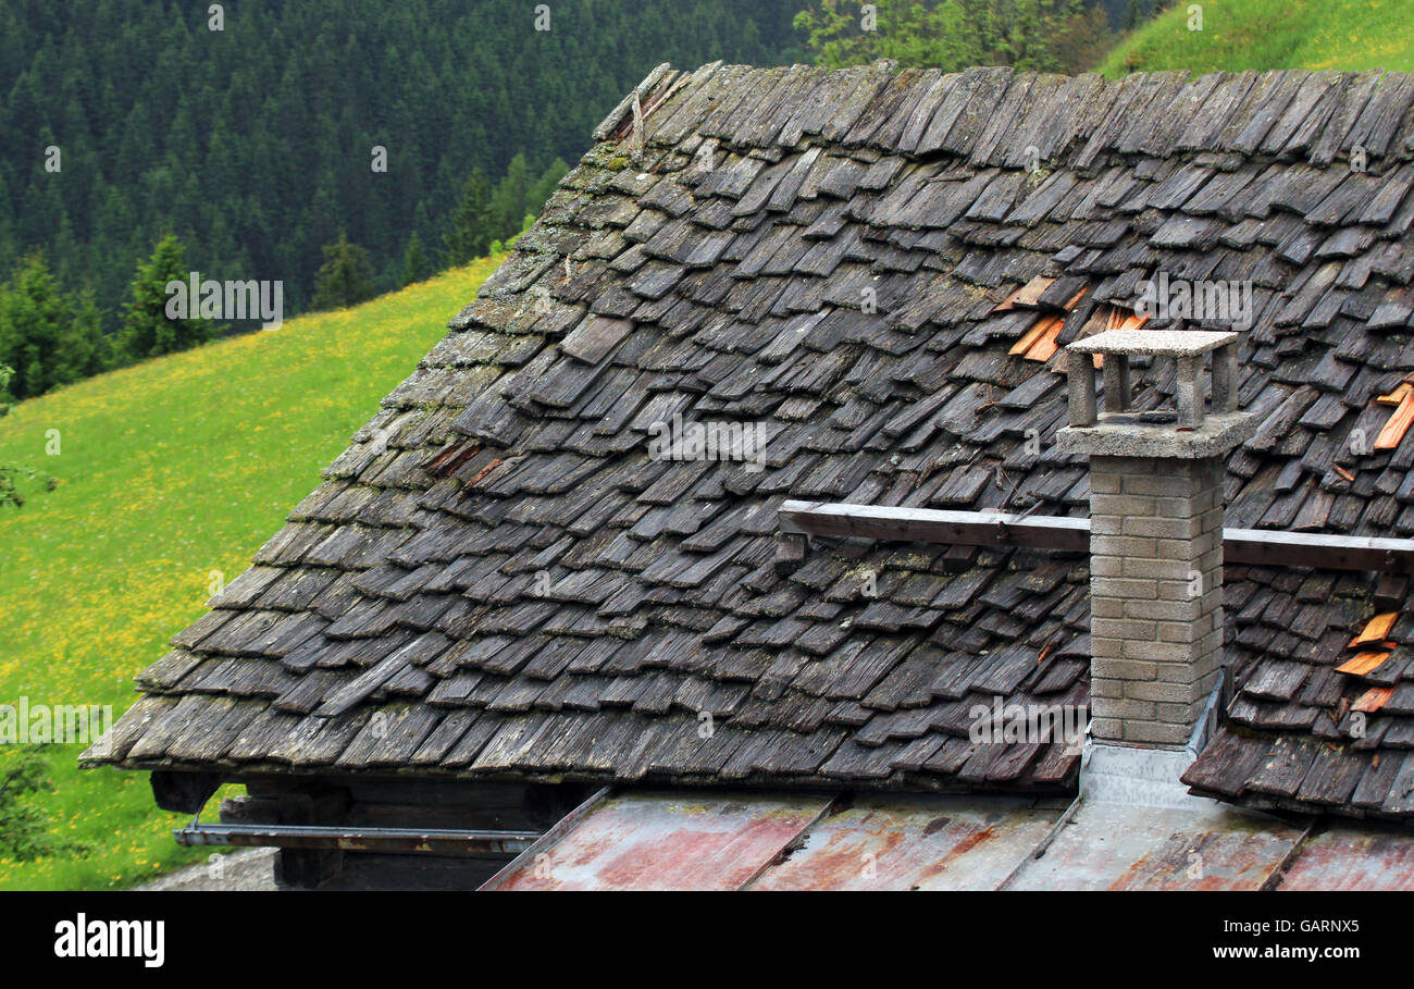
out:
{"label": "top row of upright weathered shingles along the roof ridge", "polygon": [[1159,71],[1107,79],[1011,66],[908,69],[888,59],[831,71],[715,61],[683,72],[663,62],[595,127],[595,140],[632,133],[635,98],[645,113],[639,140],[656,147],[697,132],[732,147],[837,143],[1005,167],[1034,161],[1032,147],[1045,161],[1076,143],[1077,161],[1055,164],[1236,151],[1326,167],[1355,144],[1370,160],[1414,157],[1408,72]]}

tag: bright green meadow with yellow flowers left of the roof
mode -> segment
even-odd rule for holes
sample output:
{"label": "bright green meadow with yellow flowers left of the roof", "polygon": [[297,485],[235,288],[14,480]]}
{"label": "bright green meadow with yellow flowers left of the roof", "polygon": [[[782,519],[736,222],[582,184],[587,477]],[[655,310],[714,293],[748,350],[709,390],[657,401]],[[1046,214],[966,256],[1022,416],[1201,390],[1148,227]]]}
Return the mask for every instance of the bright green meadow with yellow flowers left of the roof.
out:
{"label": "bright green meadow with yellow flowers left of the roof", "polygon": [[[59,481],[0,511],[0,703],[126,710],[133,675],[205,610],[212,573],[229,582],[247,566],[499,260],[93,378],[0,419],[0,463]],[[0,889],[126,887],[206,856],[175,846],[170,829],[185,816],[156,808],[147,774],[79,771],[81,750],[45,747],[55,790],[37,802],[57,843],[86,850],[28,862],[0,850]]]}

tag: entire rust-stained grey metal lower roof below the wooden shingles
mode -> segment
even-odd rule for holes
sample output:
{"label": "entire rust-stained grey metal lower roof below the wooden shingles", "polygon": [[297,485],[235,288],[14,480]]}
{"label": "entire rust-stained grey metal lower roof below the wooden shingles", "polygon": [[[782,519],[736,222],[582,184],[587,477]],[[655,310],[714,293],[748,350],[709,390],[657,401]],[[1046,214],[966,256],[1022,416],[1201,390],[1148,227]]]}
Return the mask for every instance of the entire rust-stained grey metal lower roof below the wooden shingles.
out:
{"label": "entire rust-stained grey metal lower roof below the wooden shingles", "polygon": [[[1403,890],[1414,835],[1182,806],[1008,797],[601,794],[484,889]],[[1053,832],[1044,855],[1036,849]]]}

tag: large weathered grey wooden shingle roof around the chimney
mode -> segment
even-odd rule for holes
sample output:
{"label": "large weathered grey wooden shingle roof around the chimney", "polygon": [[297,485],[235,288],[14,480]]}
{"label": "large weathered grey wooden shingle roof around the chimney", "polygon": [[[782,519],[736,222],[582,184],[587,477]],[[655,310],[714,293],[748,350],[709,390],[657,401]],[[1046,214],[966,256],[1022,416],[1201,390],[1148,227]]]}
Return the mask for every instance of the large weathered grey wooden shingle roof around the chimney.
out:
{"label": "large weathered grey wooden shingle roof around the chimney", "polygon": [[[1414,440],[1374,441],[1414,375],[1414,78],[708,65],[636,95],[93,761],[1072,788],[1075,751],[967,727],[1086,702],[1083,556],[778,566],[775,512],[1083,515],[1058,348],[1159,270],[1253,283],[1227,525],[1414,533]],[[1172,391],[1135,374],[1141,409]],[[765,468],[650,458],[674,415],[765,423]],[[1407,580],[1226,593],[1191,782],[1414,814]],[[1339,672],[1387,611],[1389,657]]]}

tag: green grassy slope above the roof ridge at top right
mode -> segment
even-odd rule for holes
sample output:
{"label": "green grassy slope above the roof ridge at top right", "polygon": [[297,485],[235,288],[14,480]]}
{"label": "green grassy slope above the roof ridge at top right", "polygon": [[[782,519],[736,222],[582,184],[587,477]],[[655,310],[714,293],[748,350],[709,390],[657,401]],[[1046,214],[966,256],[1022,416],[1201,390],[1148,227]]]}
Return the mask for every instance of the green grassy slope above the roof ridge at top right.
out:
{"label": "green grassy slope above the roof ridge at top right", "polygon": [[[1189,30],[1192,6],[1202,30]],[[1099,71],[1414,69],[1410,0],[1178,0]]]}

